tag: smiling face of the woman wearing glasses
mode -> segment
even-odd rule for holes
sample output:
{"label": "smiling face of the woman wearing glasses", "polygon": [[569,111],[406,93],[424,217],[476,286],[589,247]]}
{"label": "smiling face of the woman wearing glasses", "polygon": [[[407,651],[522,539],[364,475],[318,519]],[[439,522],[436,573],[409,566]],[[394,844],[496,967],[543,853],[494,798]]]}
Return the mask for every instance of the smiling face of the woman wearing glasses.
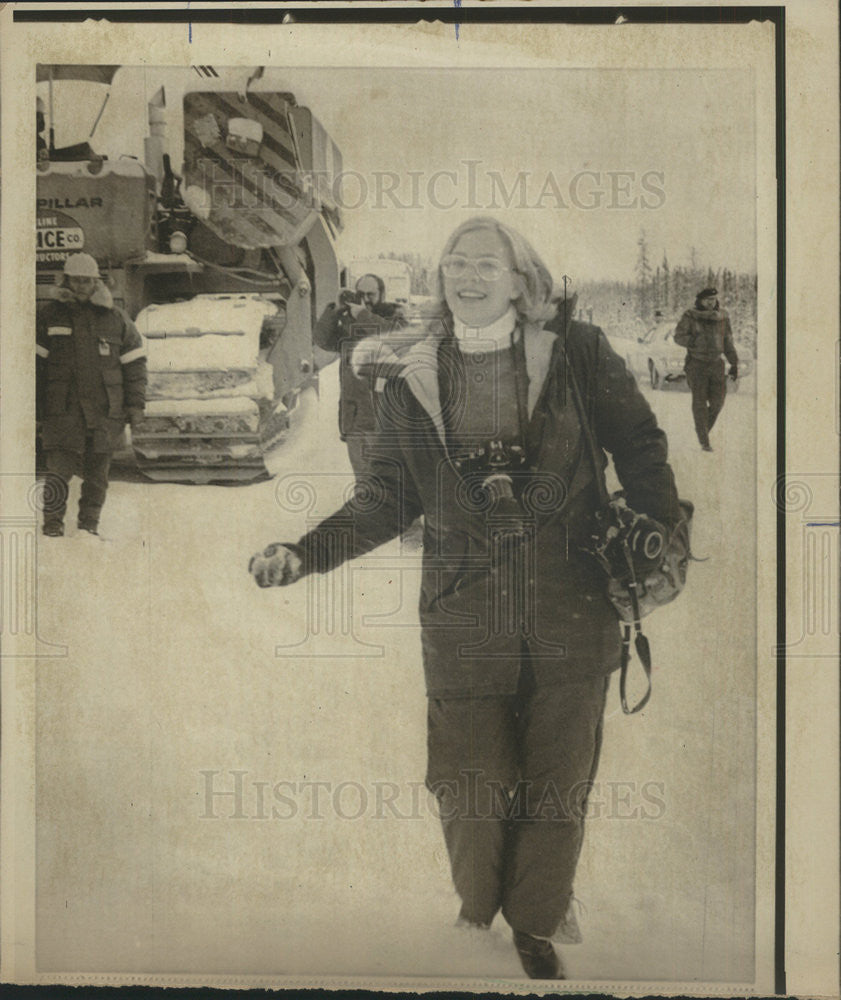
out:
{"label": "smiling face of the woman wearing glasses", "polygon": [[[489,326],[520,294],[507,243],[493,229],[474,229],[459,238],[452,254],[466,258],[467,266],[456,278],[444,275],[444,298],[450,311],[465,326]],[[504,268],[495,281],[479,277],[474,262],[480,257],[495,259]]]}

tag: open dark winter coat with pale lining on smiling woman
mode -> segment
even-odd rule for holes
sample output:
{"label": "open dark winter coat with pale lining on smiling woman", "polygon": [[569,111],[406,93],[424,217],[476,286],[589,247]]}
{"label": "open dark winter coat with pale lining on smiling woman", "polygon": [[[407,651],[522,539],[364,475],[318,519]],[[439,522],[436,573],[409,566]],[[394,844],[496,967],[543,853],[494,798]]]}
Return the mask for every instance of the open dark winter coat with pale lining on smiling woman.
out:
{"label": "open dark winter coat with pale lining on smiling woman", "polygon": [[420,620],[430,696],[514,693],[524,638],[538,684],[607,674],[619,665],[619,627],[601,571],[582,551],[599,494],[568,364],[629,505],[671,525],[679,511],[665,435],[599,329],[572,323],[566,353],[550,331],[524,329],[529,472],[515,478],[536,536],[520,557],[528,583],[518,600],[519,589],[505,580],[508,561],[490,558],[482,496],[447,452],[437,371],[446,340],[443,327],[432,330],[399,359],[385,357],[382,341],[374,348],[391,362],[379,365],[375,379],[380,432],[372,472],[380,489],[299,540],[305,572],[327,572],[368,552],[423,514]]}

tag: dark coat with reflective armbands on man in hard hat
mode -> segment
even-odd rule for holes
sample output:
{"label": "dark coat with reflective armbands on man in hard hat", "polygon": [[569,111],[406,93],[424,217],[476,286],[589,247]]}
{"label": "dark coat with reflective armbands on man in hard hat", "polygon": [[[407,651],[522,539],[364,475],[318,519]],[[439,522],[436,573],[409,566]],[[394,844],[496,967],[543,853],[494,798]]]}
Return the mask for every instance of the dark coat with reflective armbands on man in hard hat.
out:
{"label": "dark coat with reflective armbands on man in hard hat", "polygon": [[117,446],[129,410],[146,400],[146,348],[101,282],[88,302],[66,288],[38,313],[37,416],[46,451]]}

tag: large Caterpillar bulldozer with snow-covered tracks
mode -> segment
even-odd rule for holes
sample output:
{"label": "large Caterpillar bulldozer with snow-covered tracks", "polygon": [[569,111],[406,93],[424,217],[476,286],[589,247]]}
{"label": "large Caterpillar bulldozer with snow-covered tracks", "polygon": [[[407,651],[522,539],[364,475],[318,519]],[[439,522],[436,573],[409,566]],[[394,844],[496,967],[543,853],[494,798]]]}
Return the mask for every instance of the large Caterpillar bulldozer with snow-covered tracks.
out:
{"label": "large Caterpillar bulldozer with snow-covered tracks", "polygon": [[145,476],[261,478],[317,379],[314,317],[339,290],[341,153],[294,94],[249,89],[256,73],[234,89],[215,70],[183,89],[179,171],[163,87],[147,104],[143,161],[99,156],[87,141],[56,147],[54,86],[110,88],[119,69],[38,68],[50,130],[38,141],[37,298],[84,250],[134,319],[149,385],[131,450]]}

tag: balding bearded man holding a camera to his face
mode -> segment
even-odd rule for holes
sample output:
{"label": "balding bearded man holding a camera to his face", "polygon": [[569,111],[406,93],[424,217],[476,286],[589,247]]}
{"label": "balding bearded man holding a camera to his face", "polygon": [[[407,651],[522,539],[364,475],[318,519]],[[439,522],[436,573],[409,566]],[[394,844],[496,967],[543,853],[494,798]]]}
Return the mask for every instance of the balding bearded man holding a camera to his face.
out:
{"label": "balding bearded man holding a camera to his face", "polygon": [[405,325],[400,306],[385,301],[385,282],[377,274],[363,274],[355,291],[343,291],[319,317],[313,341],[323,350],[338,353],[339,434],[347,444],[354,475],[369,472],[368,450],[376,424],[369,380],[354,374],[350,355],[356,343],[372,334],[399,330]]}

